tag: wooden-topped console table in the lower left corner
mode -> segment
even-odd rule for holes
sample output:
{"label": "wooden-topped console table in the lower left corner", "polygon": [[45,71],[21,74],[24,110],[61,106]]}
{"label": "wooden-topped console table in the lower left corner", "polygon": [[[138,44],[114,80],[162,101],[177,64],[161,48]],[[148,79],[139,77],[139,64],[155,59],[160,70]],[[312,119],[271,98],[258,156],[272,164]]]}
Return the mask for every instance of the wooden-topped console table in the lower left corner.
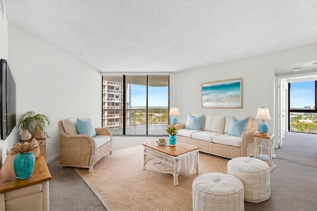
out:
{"label": "wooden-topped console table in the lower left corner", "polygon": [[[24,211],[50,210],[48,180],[52,179],[52,176],[44,158],[45,145],[40,146],[40,149],[40,156],[35,159],[33,173],[27,179],[16,177],[13,168],[15,156],[7,155],[0,169],[1,211],[14,211],[17,208]],[[36,192],[35,189],[39,191]],[[20,194],[22,192],[24,195]],[[27,203],[25,203],[25,197],[28,197]]]}

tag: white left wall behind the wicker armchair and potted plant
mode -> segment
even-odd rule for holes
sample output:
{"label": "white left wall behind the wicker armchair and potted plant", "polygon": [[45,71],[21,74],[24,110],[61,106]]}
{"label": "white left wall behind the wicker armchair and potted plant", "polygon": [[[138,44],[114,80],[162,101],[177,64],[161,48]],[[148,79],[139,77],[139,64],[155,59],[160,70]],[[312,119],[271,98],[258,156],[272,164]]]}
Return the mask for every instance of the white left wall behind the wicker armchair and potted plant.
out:
{"label": "white left wall behind the wicker armchair and potted plant", "polygon": [[[16,83],[17,119],[28,111],[50,118],[45,129],[51,136],[46,141],[48,160],[59,154],[59,120],[89,116],[96,127],[102,126],[98,71],[10,22],[8,64]],[[8,148],[20,141],[17,130],[13,132],[17,138],[9,140]]]}

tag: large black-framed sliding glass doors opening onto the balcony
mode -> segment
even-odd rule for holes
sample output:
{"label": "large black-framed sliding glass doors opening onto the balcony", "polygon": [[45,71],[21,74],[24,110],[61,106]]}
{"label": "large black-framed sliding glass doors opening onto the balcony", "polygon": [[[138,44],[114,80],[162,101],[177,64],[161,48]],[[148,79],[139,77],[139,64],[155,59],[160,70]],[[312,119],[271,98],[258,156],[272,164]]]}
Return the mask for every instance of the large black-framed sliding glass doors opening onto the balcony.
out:
{"label": "large black-framed sliding glass doors opening onto the balcony", "polygon": [[113,135],[164,135],[168,75],[103,76],[103,127]]}

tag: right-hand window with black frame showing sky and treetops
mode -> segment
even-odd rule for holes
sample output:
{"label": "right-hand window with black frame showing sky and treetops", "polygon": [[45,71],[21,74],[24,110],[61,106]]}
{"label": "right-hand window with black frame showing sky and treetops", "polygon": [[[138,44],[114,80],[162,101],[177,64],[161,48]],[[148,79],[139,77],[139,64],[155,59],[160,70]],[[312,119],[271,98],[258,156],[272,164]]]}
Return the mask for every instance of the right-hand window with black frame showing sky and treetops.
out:
{"label": "right-hand window with black frame showing sky and treetops", "polygon": [[289,83],[289,131],[317,133],[317,81]]}

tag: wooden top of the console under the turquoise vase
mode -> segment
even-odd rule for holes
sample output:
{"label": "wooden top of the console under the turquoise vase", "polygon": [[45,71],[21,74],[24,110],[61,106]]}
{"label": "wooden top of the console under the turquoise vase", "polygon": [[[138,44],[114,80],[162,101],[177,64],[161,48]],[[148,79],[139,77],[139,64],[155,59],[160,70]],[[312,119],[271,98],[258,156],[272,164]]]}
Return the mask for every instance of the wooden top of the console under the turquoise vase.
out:
{"label": "wooden top of the console under the turquoise vase", "polygon": [[[42,150],[40,152],[42,152]],[[18,179],[16,177],[13,167],[14,158],[15,156],[7,155],[0,169],[0,193],[35,185],[52,179],[43,154],[40,153],[40,156],[35,159],[33,173],[27,179]]]}

